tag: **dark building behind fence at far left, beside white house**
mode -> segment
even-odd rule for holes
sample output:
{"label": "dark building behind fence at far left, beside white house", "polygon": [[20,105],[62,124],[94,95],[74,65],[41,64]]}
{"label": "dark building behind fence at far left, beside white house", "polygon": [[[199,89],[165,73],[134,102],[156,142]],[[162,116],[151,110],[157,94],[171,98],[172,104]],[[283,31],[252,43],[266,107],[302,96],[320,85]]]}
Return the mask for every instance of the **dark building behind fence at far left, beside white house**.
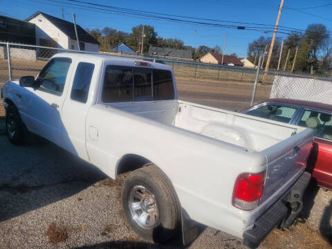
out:
{"label": "dark building behind fence at far left, beside white house", "polygon": [[[35,45],[35,24],[0,15],[0,42]],[[12,59],[36,60],[34,48],[11,46],[10,55]],[[0,46],[0,59],[7,58],[6,47]]]}

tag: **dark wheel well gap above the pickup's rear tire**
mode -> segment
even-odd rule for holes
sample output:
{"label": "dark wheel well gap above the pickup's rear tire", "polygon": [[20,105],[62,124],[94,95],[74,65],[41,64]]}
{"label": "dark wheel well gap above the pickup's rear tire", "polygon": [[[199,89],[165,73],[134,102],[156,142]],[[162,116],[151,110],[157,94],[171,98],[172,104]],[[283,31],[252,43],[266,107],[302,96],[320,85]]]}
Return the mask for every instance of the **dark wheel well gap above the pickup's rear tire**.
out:
{"label": "dark wheel well gap above the pickup's rear tire", "polygon": [[138,156],[136,154],[124,155],[120,159],[118,167],[116,167],[116,176],[129,171],[133,171],[135,169],[139,169],[147,163],[151,163],[151,161],[145,157]]}

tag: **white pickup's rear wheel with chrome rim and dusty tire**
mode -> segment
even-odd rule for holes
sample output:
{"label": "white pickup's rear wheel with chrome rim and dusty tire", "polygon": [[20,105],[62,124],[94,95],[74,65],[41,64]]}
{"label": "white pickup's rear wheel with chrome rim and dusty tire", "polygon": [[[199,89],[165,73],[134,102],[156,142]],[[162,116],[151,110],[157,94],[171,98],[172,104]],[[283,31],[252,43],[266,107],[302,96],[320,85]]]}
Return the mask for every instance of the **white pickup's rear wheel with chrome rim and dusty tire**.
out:
{"label": "white pickup's rear wheel with chrome rim and dusty tire", "polygon": [[176,195],[167,176],[155,165],[131,172],[122,186],[121,198],[129,225],[143,239],[165,243],[181,231]]}

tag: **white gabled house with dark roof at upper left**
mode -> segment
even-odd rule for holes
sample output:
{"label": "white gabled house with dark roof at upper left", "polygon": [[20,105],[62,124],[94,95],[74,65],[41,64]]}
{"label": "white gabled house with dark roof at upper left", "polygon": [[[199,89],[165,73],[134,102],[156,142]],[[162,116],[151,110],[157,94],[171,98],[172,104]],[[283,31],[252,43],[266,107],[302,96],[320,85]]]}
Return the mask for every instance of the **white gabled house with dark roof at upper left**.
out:
{"label": "white gabled house with dark roof at upper left", "polygon": [[[70,21],[53,17],[44,12],[35,12],[26,19],[35,24],[36,44],[53,48],[78,50],[75,26]],[[97,42],[80,25],[76,24],[80,50],[98,52]]]}

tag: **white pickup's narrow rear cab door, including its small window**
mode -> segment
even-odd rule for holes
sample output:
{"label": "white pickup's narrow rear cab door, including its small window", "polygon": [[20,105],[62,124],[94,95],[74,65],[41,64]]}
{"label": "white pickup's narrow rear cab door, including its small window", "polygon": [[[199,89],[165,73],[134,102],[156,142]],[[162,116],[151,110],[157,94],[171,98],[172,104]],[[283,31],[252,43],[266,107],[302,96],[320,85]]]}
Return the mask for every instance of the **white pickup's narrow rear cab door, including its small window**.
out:
{"label": "white pickup's narrow rear cab door, including its small window", "polygon": [[[95,103],[98,91],[100,72],[96,68],[101,62],[98,59],[81,59],[74,65],[67,98],[62,109],[63,122],[66,128],[64,147],[71,153],[89,160],[86,152],[86,114]],[[91,84],[93,82],[94,84]]]}

